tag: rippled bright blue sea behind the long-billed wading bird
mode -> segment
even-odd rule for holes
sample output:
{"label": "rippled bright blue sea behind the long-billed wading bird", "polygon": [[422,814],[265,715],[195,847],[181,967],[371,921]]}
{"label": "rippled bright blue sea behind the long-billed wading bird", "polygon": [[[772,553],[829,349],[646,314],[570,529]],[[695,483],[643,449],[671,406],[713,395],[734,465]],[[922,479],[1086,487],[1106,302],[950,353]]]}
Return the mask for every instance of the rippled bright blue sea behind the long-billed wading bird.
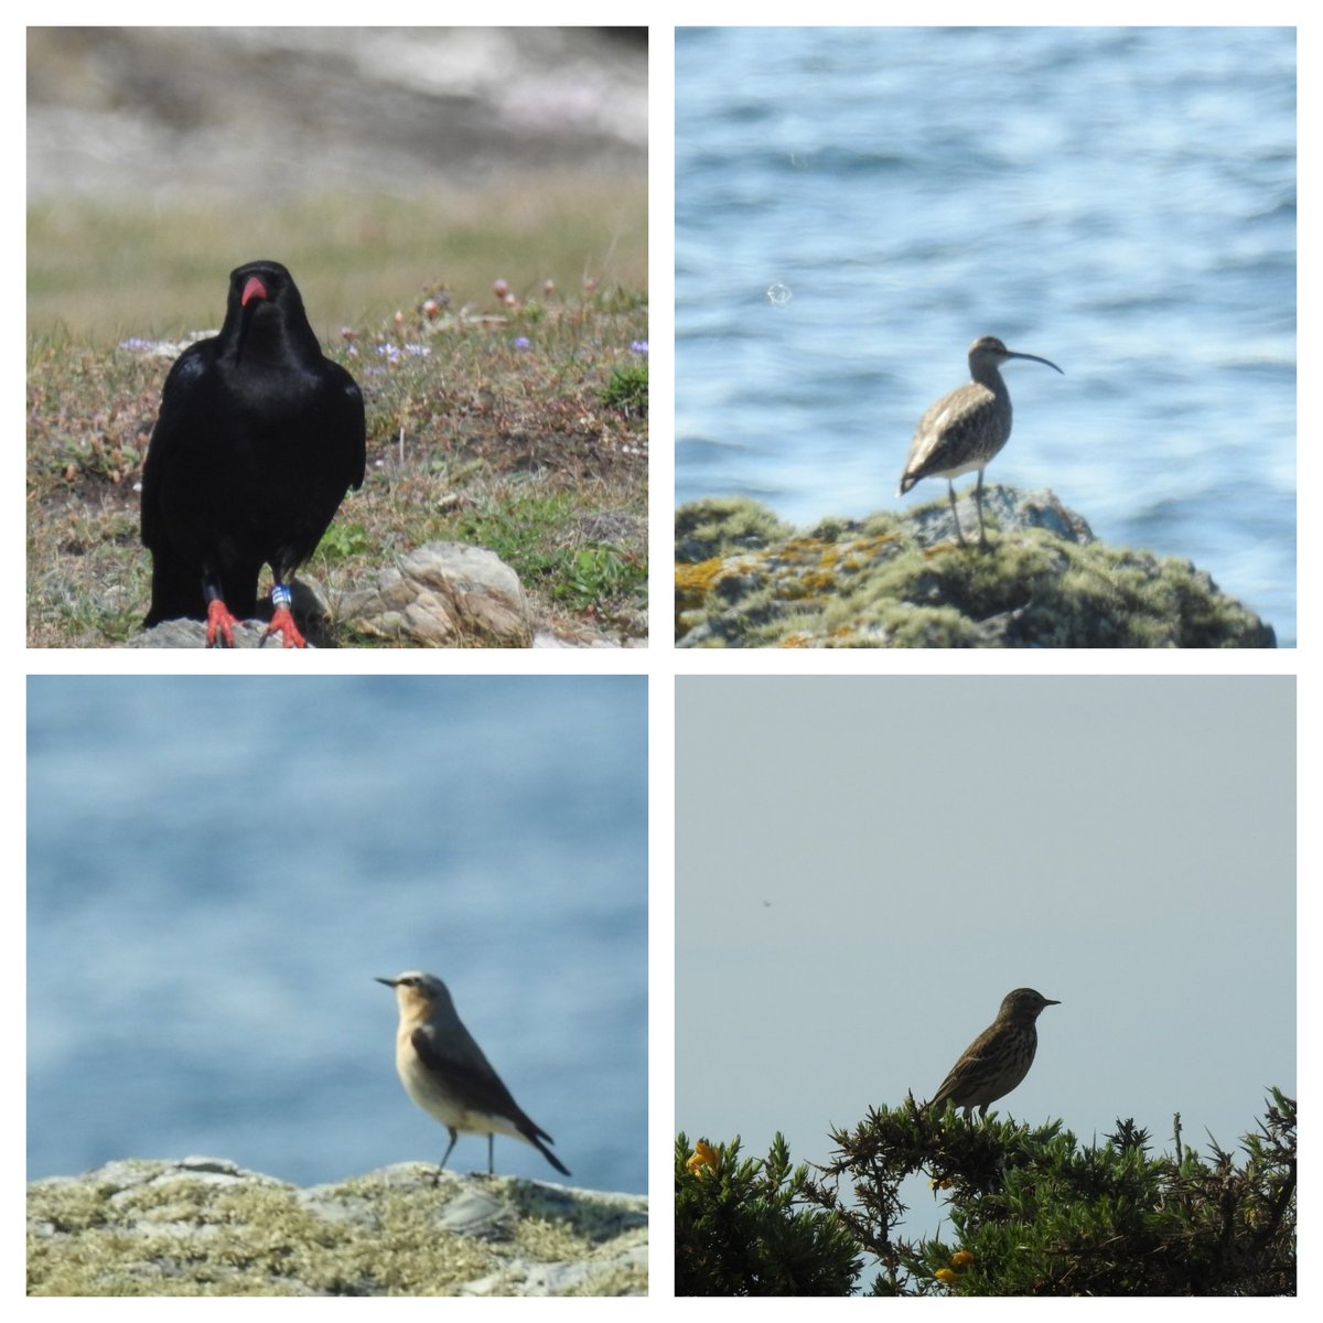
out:
{"label": "rippled bright blue sea behind the long-billed wading bird", "polygon": [[945,499],[910,437],[996,335],[1065,376],[1004,369],[987,480],[1294,643],[1294,29],[679,29],[675,324],[680,501]]}

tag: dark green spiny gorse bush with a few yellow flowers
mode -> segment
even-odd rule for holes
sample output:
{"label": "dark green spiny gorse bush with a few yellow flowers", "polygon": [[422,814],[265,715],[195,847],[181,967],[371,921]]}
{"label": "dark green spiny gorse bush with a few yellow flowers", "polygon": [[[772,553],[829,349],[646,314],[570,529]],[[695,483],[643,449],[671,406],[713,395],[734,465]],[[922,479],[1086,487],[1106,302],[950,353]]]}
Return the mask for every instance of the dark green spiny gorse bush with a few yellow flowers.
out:
{"label": "dark green spiny gorse bush with a few yellow flowers", "polygon": [[[1081,1144],[1060,1122],[967,1122],[913,1101],[831,1135],[810,1177],[778,1135],[738,1162],[676,1147],[676,1291],[844,1294],[872,1257],[873,1295],[1294,1295],[1295,1099],[1278,1089],[1240,1159],[1211,1143],[1154,1155],[1118,1121]],[[901,1183],[926,1172],[951,1236],[906,1240]]]}

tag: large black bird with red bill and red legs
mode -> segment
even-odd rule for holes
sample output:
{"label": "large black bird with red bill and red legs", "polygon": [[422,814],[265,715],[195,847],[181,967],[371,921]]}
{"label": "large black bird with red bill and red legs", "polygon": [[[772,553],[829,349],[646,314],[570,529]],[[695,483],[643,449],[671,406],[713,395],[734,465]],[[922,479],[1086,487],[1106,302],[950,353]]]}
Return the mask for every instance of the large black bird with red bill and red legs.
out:
{"label": "large black bird with red bill and red legs", "polygon": [[363,484],[365,441],[363,396],[323,356],[290,273],[279,262],[233,271],[221,333],[185,349],[161,392],[143,466],[144,624],[206,620],[208,647],[233,647],[270,565],[266,632],[306,647],[288,578]]}

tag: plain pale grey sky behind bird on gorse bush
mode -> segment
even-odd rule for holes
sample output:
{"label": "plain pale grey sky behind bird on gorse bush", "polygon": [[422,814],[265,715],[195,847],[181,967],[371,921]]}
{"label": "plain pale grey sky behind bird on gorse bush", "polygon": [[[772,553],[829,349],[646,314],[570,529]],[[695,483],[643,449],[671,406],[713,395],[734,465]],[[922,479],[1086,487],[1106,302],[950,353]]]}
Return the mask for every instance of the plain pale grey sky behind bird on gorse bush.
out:
{"label": "plain pale grey sky behind bird on gorse bush", "polygon": [[675,803],[691,1139],[822,1162],[1021,986],[1003,1114],[1234,1147],[1295,1090],[1291,676],[679,677]]}

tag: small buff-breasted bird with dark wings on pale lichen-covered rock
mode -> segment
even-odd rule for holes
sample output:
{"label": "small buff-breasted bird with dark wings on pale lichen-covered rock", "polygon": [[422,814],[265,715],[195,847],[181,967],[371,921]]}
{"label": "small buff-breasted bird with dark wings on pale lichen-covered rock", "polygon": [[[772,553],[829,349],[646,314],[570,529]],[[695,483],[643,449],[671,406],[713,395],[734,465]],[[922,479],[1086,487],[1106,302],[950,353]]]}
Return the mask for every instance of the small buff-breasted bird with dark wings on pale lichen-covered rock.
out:
{"label": "small buff-breasted bird with dark wings on pale lichen-covered rock", "polygon": [[450,1131],[450,1150],[463,1130],[487,1136],[487,1172],[492,1172],[496,1135],[509,1135],[532,1144],[558,1172],[569,1168],[542,1143],[554,1139],[521,1111],[519,1103],[492,1070],[483,1049],[455,1013],[450,990],[435,974],[410,971],[393,979],[377,979],[396,990],[400,1031],[396,1035],[396,1069],[405,1093]]}

